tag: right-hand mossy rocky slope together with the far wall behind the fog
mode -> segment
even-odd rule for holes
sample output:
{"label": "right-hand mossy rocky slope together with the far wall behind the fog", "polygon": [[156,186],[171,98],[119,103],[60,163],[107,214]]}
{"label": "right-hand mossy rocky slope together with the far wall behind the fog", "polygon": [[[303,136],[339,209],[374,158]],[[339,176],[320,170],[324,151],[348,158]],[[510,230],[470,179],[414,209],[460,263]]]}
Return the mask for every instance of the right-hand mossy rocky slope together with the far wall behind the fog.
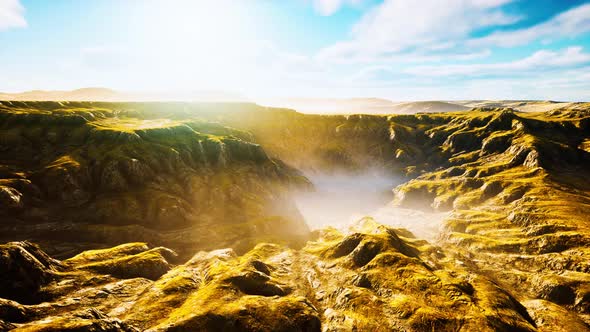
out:
{"label": "right-hand mossy rocky slope together with the far wall behind the fog", "polygon": [[294,126],[284,120],[245,128],[283,158],[291,157],[290,146],[304,146],[305,157],[290,160],[295,165],[329,163],[329,141],[339,151],[334,161],[345,161],[332,164],[407,176],[394,204],[449,211],[438,244],[470,270],[590,323],[590,104],[542,113],[291,117]]}

